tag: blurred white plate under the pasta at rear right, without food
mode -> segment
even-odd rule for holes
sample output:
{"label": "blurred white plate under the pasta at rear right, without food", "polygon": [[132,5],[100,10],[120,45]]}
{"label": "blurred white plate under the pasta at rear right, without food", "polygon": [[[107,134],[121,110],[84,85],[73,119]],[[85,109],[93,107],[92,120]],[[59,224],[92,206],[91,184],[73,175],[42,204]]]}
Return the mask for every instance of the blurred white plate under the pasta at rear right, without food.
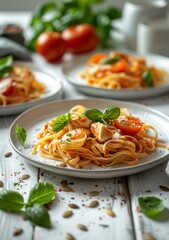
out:
{"label": "blurred white plate under the pasta at rear right, without food", "polygon": [[[103,52],[103,51],[100,51]],[[124,51],[128,52],[128,51]],[[106,51],[107,53],[107,51]],[[129,54],[139,56],[137,53],[128,52]],[[91,55],[91,54],[90,54]],[[99,88],[94,86],[89,86],[86,80],[79,76],[86,68],[87,60],[90,55],[85,55],[82,57],[77,57],[74,60],[68,61],[63,65],[62,71],[66,77],[66,80],[72,84],[77,90],[90,96],[97,96],[103,98],[113,98],[120,100],[132,100],[132,99],[144,99],[155,97],[163,93],[169,92],[169,79],[168,82],[159,87],[146,88],[141,90],[112,90],[106,88]],[[140,55],[145,57],[148,65],[154,65],[157,68],[166,70],[169,73],[169,58],[159,56],[159,55]]]}

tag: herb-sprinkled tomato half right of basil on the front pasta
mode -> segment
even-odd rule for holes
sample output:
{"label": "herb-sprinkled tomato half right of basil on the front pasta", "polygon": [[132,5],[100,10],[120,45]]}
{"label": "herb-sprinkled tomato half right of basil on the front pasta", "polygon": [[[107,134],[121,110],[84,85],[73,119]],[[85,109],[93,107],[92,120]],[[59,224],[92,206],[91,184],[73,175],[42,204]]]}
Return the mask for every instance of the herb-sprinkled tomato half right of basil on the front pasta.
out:
{"label": "herb-sprinkled tomato half right of basil on the front pasta", "polygon": [[141,130],[143,123],[139,118],[126,116],[125,118],[117,118],[114,125],[120,129],[122,133],[133,136]]}

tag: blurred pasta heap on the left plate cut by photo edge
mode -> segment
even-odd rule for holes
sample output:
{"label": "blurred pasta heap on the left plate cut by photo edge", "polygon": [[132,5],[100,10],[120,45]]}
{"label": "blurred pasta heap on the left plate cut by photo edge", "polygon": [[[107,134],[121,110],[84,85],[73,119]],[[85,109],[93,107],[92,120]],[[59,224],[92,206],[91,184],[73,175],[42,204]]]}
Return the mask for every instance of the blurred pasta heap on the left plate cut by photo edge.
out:
{"label": "blurred pasta heap on the left plate cut by photo edge", "polygon": [[7,77],[0,77],[0,85],[0,106],[38,99],[45,92],[44,84],[38,82],[30,69],[23,66],[12,67]]}

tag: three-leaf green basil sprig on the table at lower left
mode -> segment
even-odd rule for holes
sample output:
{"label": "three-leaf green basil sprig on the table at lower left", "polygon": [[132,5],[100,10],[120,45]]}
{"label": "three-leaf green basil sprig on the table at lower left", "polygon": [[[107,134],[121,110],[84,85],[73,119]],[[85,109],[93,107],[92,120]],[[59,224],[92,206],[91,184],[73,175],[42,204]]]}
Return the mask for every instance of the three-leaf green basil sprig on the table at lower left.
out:
{"label": "three-leaf green basil sprig on the table at lower left", "polygon": [[51,220],[45,204],[53,201],[55,189],[47,182],[37,183],[31,190],[28,202],[25,203],[23,196],[12,190],[0,191],[0,209],[8,212],[25,212],[26,217],[32,224],[44,228],[51,228]]}

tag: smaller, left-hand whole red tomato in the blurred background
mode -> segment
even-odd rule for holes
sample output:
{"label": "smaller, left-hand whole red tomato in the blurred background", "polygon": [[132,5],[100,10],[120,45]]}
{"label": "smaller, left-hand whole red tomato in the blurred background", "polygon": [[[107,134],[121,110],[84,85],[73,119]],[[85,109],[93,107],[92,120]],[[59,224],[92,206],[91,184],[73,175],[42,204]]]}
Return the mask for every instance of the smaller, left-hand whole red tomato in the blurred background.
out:
{"label": "smaller, left-hand whole red tomato in the blurred background", "polygon": [[58,32],[44,32],[36,41],[36,51],[48,62],[58,62],[66,52],[66,43]]}

